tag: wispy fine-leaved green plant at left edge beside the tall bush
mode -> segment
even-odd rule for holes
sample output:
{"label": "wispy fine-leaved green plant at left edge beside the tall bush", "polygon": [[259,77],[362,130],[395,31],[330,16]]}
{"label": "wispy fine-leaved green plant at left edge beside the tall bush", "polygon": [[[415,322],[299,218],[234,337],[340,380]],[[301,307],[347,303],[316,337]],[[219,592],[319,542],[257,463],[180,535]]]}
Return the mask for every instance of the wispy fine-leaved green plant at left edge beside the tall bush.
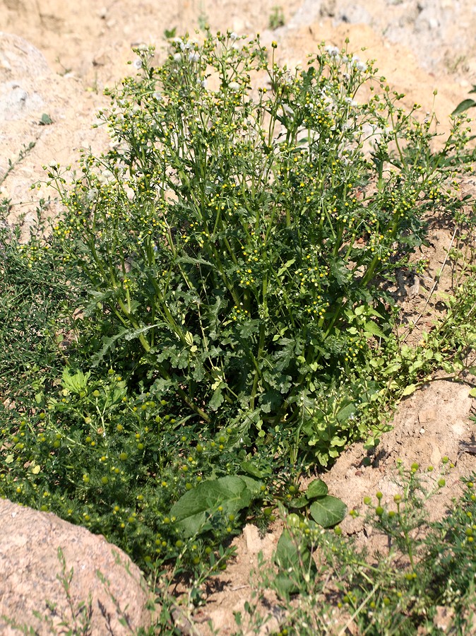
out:
{"label": "wispy fine-leaved green plant at left edge beside the tall bush", "polygon": [[[40,201],[42,214],[45,201]],[[6,210],[8,212],[8,210]],[[78,338],[73,309],[84,302],[81,281],[64,276],[56,254],[44,245],[45,224],[31,228],[28,245],[20,228],[0,219],[0,394],[29,413],[35,396],[49,390]],[[11,413],[0,408],[0,421]]]}

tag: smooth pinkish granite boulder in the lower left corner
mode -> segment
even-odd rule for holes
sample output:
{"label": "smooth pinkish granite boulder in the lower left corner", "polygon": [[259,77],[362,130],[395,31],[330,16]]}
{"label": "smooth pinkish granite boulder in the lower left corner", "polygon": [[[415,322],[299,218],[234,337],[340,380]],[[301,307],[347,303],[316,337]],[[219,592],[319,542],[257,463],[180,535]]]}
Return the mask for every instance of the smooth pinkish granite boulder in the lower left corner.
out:
{"label": "smooth pinkish granite boulder in the lower left corner", "polygon": [[[150,625],[148,597],[141,570],[104,537],[52,513],[0,500],[2,635],[17,635],[13,625],[49,634],[49,623],[56,633],[62,620],[74,633],[80,633],[76,629],[85,620],[90,620],[88,634],[135,633]],[[81,603],[85,603],[83,610]],[[126,627],[119,623],[121,619]]]}

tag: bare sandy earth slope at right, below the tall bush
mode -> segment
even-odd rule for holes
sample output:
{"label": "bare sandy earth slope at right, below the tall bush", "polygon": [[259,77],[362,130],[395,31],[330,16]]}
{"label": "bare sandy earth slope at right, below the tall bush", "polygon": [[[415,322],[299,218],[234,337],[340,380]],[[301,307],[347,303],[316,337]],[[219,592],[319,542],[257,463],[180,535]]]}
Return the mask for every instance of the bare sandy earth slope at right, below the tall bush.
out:
{"label": "bare sandy earth slope at right, below the tall bush", "polygon": [[[403,493],[396,469],[397,459],[402,458],[407,471],[413,462],[421,466],[421,479],[427,490],[433,490],[436,480],[444,474],[446,488],[427,502],[429,520],[442,519],[453,506],[453,497],[460,493],[461,478],[474,470],[474,456],[460,454],[460,444],[472,444],[471,409],[468,386],[434,380],[400,402],[393,429],[382,435],[374,454],[369,455],[364,444],[353,444],[340,455],[325,477],[329,493],[340,497],[349,510],[361,513],[359,517],[348,515],[341,524],[343,531],[359,535],[366,529],[364,497],[373,497],[376,505],[375,493],[380,490],[382,505],[393,506],[393,496]],[[441,463],[445,456],[455,464],[451,470],[444,469]],[[364,463],[364,459],[371,461]],[[428,472],[428,466],[433,466],[434,471]],[[343,476],[348,479],[343,480]]]}

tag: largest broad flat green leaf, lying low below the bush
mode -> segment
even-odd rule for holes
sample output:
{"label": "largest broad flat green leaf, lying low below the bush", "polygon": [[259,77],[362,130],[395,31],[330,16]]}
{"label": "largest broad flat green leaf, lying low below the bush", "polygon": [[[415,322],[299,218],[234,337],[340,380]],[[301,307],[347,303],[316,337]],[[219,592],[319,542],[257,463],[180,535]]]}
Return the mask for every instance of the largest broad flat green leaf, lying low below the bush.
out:
{"label": "largest broad flat green leaf, lying low below the bush", "polygon": [[222,514],[237,514],[250,505],[260,484],[250,477],[228,475],[199,483],[174,503],[169,517],[176,517],[175,526],[185,538],[212,529],[210,518],[221,506]]}

